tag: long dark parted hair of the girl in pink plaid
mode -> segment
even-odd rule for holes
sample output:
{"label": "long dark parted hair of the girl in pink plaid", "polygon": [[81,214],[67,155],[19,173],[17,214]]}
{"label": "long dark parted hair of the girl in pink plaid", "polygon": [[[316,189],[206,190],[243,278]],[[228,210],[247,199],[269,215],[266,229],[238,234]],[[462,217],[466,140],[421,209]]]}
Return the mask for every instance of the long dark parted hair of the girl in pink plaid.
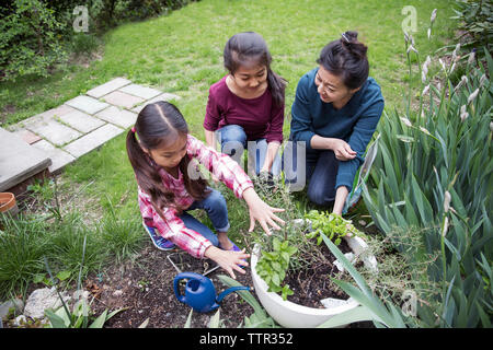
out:
{"label": "long dark parted hair of the girl in pink plaid", "polygon": [[[162,142],[175,139],[180,135],[188,133],[188,126],[180,110],[171,103],[159,101],[148,104],[139,113],[134,127],[135,131],[127,133],[127,154],[134,167],[135,176],[140,188],[151,197],[152,206],[162,217],[162,208],[180,208],[174,202],[174,194],[165,188],[159,175],[159,165],[144,152],[159,148]],[[138,140],[137,140],[138,137]],[[183,174],[185,188],[196,200],[204,199],[208,194],[207,182],[204,178],[192,180],[188,176],[188,164],[192,159],[185,154],[179,167]]]}

